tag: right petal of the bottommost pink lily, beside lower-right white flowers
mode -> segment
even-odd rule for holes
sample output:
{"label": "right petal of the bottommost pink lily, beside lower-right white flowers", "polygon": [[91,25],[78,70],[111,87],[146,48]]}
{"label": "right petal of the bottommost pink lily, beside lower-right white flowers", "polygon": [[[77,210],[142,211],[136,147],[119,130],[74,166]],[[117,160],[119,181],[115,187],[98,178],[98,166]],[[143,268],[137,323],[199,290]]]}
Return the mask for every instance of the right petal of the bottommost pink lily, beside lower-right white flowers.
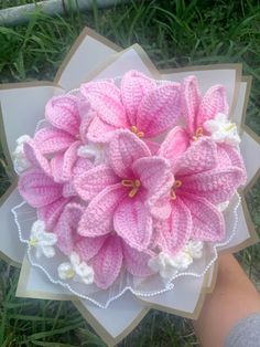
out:
{"label": "right petal of the bottommost pink lily, beside lower-right white flowers", "polygon": [[138,277],[147,277],[153,273],[148,266],[151,255],[130,248],[126,242],[122,242],[122,252],[126,269],[130,274]]}

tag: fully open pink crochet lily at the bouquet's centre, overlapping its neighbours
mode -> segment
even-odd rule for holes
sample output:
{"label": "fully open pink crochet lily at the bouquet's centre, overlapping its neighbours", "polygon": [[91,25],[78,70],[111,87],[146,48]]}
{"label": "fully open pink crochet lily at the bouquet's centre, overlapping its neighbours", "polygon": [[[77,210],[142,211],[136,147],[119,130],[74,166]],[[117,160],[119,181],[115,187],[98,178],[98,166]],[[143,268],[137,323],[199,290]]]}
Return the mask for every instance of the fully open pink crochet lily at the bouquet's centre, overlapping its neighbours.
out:
{"label": "fully open pink crochet lily at the bouquet's centre, overlapping its neighbours", "polygon": [[78,194],[90,200],[78,232],[94,238],[113,229],[131,248],[143,251],[152,240],[152,215],[164,219],[171,211],[164,202],[173,183],[170,166],[164,158],[152,157],[129,130],[115,133],[108,160],[110,166],[95,167],[75,178]]}

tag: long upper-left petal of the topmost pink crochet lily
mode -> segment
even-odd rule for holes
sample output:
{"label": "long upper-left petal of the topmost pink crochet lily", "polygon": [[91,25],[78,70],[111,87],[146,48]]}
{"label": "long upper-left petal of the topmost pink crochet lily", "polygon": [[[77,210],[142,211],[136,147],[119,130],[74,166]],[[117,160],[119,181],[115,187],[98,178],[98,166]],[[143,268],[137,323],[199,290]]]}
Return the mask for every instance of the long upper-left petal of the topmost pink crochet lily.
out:
{"label": "long upper-left petal of the topmost pink crochet lily", "polygon": [[129,127],[121,103],[121,92],[113,83],[106,81],[86,83],[82,85],[80,92],[104,122],[119,128]]}

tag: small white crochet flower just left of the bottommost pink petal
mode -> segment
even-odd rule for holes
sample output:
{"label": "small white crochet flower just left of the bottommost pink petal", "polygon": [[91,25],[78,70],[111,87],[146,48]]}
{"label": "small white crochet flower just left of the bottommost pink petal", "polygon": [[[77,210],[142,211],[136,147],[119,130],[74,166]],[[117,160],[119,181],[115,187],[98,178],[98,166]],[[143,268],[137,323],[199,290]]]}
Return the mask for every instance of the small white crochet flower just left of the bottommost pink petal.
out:
{"label": "small white crochet flower just left of the bottommost pink petal", "polygon": [[57,267],[58,277],[61,280],[71,280],[91,284],[94,282],[94,270],[86,262],[80,262],[77,253],[73,252],[69,255],[71,263],[62,263]]}

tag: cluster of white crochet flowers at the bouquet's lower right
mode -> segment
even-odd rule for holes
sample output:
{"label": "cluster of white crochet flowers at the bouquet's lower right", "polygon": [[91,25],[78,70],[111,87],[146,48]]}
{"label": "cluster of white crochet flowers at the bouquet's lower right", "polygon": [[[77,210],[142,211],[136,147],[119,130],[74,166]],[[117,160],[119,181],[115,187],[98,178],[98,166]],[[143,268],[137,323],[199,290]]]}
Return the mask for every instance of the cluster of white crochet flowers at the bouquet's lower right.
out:
{"label": "cluster of white crochet flowers at the bouquet's lower right", "polygon": [[150,259],[148,265],[159,272],[163,278],[171,278],[180,270],[187,269],[194,259],[203,255],[202,241],[188,241],[181,252],[172,256],[165,252],[159,253],[156,257]]}

